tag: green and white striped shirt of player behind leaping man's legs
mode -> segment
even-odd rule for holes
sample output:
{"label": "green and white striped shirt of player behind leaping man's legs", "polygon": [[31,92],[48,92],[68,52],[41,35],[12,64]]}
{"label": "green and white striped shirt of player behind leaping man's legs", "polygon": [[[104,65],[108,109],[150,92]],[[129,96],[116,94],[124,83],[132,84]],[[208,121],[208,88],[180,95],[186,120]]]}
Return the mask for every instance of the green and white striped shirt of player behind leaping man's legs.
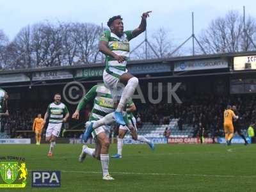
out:
{"label": "green and white striped shirt of player behind leaping man's legs", "polygon": [[109,113],[115,111],[111,93],[104,84],[97,84],[93,86],[89,92],[84,95],[83,99],[81,99],[77,109],[80,111],[90,100],[93,99],[93,109],[89,118],[90,121],[99,120],[100,118],[103,118]]}

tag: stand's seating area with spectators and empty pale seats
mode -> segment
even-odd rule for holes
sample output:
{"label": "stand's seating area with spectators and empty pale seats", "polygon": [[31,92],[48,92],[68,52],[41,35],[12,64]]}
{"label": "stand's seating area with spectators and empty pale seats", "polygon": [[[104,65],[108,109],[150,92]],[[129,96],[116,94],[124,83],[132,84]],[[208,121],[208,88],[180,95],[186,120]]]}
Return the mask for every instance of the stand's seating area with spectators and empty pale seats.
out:
{"label": "stand's seating area with spectators and empty pale seats", "polygon": [[[161,138],[164,130],[168,127],[171,132],[170,137],[196,137],[201,123],[205,126],[205,136],[223,136],[223,109],[227,103],[236,104],[241,116],[243,132],[246,132],[245,129],[256,117],[256,99],[253,95],[246,95],[246,97],[244,95],[230,95],[228,97],[197,95],[189,99],[182,98],[182,104],[174,102],[172,104],[160,103],[143,106],[136,102],[136,106],[138,106],[136,118],[140,122],[138,133],[146,137]],[[8,118],[3,118],[1,132],[6,132],[11,138],[33,137],[33,132],[29,134],[33,119],[36,113],[44,114],[46,108],[46,106],[40,107],[39,105],[34,108],[31,106],[29,109],[15,109],[15,106],[10,106],[11,115]],[[70,113],[73,111],[74,109],[70,108]],[[83,120],[77,122],[70,119],[68,129],[81,130],[84,129],[83,125]],[[63,136],[79,137],[80,134],[81,131],[68,131]],[[127,137],[129,137],[128,134]]]}

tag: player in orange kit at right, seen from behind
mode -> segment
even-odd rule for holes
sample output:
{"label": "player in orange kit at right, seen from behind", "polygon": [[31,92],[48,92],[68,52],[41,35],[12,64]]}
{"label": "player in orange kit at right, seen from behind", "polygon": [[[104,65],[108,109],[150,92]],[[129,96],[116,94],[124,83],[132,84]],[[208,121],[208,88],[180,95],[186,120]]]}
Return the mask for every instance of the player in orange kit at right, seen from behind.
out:
{"label": "player in orange kit at right, seen from behind", "polygon": [[231,110],[231,106],[228,105],[224,111],[224,131],[227,145],[231,145],[231,139],[234,135],[233,118],[237,119],[238,116],[235,115],[234,111]]}

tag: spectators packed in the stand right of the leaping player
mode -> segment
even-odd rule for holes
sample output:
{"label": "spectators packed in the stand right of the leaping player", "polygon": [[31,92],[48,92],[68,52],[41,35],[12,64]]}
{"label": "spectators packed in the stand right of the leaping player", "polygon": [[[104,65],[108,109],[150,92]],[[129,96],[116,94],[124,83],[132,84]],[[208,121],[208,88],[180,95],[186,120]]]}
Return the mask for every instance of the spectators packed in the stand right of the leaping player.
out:
{"label": "spectators packed in the stand right of the leaping player", "polygon": [[[223,136],[223,109],[227,103],[237,104],[237,109],[241,113],[242,129],[246,129],[251,120],[256,119],[254,95],[195,95],[189,98],[183,97],[181,100],[182,104],[175,102],[168,104],[166,101],[160,104],[147,104],[147,106],[137,104],[141,121],[159,125],[160,123],[168,124],[168,121],[170,123],[172,118],[181,118],[182,125],[193,127],[194,136],[198,134],[199,124],[202,124],[205,136],[216,137]],[[180,128],[183,129],[183,126],[179,126]]]}

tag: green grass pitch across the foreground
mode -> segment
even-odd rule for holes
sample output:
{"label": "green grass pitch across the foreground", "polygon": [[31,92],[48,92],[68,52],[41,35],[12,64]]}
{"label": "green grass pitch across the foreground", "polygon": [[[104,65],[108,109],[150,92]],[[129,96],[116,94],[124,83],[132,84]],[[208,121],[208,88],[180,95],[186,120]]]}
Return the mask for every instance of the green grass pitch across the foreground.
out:
{"label": "green grass pitch across the foreground", "polygon": [[29,172],[26,190],[0,191],[256,191],[256,145],[124,145],[110,161],[113,181],[102,180],[100,161],[77,162],[81,145],[57,144],[52,159],[48,147],[0,145],[0,156],[25,157],[29,171],[61,170],[61,188],[31,188]]}

